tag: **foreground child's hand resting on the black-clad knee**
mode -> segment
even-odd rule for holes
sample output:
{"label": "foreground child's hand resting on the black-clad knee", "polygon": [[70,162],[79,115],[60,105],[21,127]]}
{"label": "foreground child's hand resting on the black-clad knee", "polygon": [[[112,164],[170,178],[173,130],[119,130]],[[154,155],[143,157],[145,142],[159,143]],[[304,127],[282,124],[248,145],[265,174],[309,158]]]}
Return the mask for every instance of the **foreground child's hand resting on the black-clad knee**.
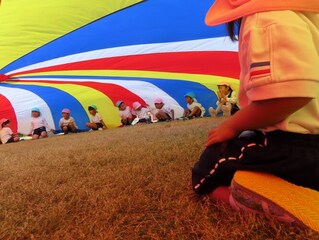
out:
{"label": "foreground child's hand resting on the black-clad knee", "polygon": [[208,139],[205,144],[206,147],[209,147],[215,143],[225,142],[230,140],[238,135],[238,132],[231,127],[230,124],[225,121],[220,124],[217,128],[213,128],[208,133]]}

